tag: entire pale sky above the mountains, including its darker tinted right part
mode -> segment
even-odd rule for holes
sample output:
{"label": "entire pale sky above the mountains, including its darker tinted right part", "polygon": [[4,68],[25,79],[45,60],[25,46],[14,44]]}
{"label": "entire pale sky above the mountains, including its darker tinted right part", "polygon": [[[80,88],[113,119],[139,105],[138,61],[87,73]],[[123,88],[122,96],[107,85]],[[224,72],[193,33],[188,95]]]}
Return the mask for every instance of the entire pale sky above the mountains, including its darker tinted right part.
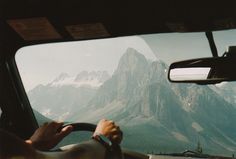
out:
{"label": "entire pale sky above the mountains, including its darker tinted right part", "polygon": [[[219,55],[236,44],[235,37],[236,30],[214,32]],[[170,33],[28,46],[18,50],[16,63],[29,91],[61,73],[76,76],[87,70],[112,74],[129,47],[148,59],[161,59],[167,64],[212,56],[204,33]]]}

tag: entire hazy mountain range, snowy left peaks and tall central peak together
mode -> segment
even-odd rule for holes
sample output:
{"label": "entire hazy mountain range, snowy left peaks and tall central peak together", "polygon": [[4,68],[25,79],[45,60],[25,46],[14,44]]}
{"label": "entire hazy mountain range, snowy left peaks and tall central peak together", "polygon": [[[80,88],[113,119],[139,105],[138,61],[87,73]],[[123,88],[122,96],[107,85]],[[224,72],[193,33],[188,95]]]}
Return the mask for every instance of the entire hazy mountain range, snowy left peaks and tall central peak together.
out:
{"label": "entire hazy mountain range, snowy left peaks and tall central peak together", "polygon": [[28,95],[34,109],[53,119],[113,119],[129,149],[179,152],[200,142],[204,152],[235,153],[233,97],[224,96],[223,87],[169,83],[167,68],[129,48],[112,76],[105,71],[81,72],[76,78],[62,74]]}

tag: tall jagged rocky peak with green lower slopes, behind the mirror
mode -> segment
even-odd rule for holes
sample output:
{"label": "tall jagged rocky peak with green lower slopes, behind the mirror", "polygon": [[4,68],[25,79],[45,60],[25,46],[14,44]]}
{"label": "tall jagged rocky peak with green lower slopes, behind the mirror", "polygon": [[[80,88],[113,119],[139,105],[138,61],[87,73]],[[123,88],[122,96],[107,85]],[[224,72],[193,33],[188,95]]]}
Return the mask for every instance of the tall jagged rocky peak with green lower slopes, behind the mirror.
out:
{"label": "tall jagged rocky peak with green lower slopes, behind the mirror", "polygon": [[201,142],[207,152],[235,152],[234,106],[208,86],[169,83],[167,68],[128,49],[112,77],[71,118],[113,119],[125,130],[124,146],[135,150],[184,151]]}

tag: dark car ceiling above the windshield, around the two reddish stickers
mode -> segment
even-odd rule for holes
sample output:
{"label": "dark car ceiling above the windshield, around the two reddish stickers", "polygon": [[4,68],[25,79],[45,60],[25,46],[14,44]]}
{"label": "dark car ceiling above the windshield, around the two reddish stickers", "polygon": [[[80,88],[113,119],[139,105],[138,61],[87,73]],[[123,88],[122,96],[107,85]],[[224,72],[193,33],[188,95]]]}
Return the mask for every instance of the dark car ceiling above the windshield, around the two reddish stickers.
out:
{"label": "dark car ceiling above the windshield, around the two reddish stickers", "polygon": [[[0,4],[0,48],[7,52],[1,59],[23,46],[77,40],[66,30],[68,25],[101,23],[107,37],[236,28],[234,0],[0,0]],[[48,19],[61,38],[24,40],[8,23],[39,17]],[[94,38],[103,37],[84,39]]]}

